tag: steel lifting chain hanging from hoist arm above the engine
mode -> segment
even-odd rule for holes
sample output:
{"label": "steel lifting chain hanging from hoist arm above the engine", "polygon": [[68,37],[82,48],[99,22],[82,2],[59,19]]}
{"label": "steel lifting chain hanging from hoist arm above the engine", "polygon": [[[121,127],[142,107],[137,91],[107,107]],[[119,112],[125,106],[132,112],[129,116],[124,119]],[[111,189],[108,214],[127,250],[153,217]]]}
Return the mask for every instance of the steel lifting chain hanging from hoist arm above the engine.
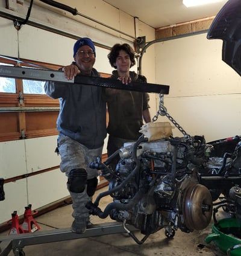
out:
{"label": "steel lifting chain hanging from hoist arm above the engine", "polygon": [[175,121],[175,119],[167,113],[167,109],[166,107],[164,107],[164,103],[163,103],[164,95],[159,94],[159,98],[160,98],[159,109],[157,111],[157,114],[154,115],[154,117],[152,118],[152,122],[157,121],[157,118],[159,115],[161,115],[162,117],[166,116],[174,124],[174,126],[177,127],[177,129],[180,130],[181,133],[183,133],[184,138],[192,140],[192,137],[183,129],[183,127],[181,127],[180,124],[178,124],[177,121]]}

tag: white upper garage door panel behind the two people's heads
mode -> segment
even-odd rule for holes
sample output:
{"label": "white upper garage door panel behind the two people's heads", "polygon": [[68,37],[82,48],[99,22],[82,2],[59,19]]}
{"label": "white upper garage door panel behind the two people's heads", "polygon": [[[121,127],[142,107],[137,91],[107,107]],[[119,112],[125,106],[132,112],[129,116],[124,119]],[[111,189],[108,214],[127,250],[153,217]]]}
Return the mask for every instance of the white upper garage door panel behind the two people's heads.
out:
{"label": "white upper garage door panel behind the two people's heads", "polygon": [[[75,39],[25,25],[19,31],[19,57],[63,66],[69,65],[73,61],[75,42]],[[113,70],[108,63],[108,53],[109,50],[96,46],[95,68],[99,72],[111,73]]]}

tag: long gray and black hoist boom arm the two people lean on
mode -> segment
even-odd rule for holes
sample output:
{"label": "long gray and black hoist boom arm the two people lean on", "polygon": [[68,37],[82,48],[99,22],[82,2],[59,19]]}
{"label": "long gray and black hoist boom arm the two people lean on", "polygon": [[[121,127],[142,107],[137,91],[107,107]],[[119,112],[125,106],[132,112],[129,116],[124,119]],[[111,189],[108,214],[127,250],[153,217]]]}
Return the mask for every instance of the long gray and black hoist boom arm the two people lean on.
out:
{"label": "long gray and black hoist boom arm the two people lean on", "polygon": [[153,83],[137,83],[131,82],[128,85],[123,85],[119,80],[102,77],[86,77],[77,75],[72,80],[67,80],[64,73],[61,71],[49,71],[44,69],[19,68],[15,66],[0,65],[0,77],[23,78],[28,80],[46,80],[60,83],[72,83],[80,85],[103,86],[126,91],[137,92],[155,92],[158,94],[169,94],[169,86],[155,85]]}

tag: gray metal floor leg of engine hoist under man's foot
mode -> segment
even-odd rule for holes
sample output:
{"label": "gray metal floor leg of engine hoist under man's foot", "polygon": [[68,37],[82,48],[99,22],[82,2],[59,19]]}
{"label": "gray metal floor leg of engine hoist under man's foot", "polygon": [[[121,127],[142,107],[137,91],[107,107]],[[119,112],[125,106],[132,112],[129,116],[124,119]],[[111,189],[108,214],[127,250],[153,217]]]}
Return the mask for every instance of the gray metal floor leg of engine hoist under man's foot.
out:
{"label": "gray metal floor leg of engine hoist under man's foot", "polygon": [[[133,226],[127,225],[130,231],[136,230]],[[110,235],[126,232],[122,223],[110,222],[90,226],[83,234],[76,234],[66,229],[56,229],[49,231],[37,231],[28,234],[9,235],[0,237],[0,256],[6,256],[13,249],[14,256],[24,256],[24,246],[39,245],[42,243],[52,243],[67,240],[74,240],[87,237],[98,237],[100,235]]]}

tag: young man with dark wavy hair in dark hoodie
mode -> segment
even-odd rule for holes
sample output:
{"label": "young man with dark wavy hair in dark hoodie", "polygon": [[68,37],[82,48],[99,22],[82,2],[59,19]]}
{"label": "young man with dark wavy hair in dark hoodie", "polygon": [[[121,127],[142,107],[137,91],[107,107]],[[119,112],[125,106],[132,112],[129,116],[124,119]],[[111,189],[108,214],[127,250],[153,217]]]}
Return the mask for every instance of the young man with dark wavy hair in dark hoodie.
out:
{"label": "young man with dark wavy hair in dark hoodie", "polygon": [[[108,54],[108,59],[110,65],[116,69],[112,72],[111,78],[121,80],[123,86],[128,87],[130,82],[146,83],[146,77],[130,71],[136,62],[134,51],[127,43],[114,45]],[[149,95],[145,92],[107,88],[104,98],[109,113],[107,153],[110,156],[125,142],[136,141],[139,138],[143,120],[145,123],[151,122]]]}

